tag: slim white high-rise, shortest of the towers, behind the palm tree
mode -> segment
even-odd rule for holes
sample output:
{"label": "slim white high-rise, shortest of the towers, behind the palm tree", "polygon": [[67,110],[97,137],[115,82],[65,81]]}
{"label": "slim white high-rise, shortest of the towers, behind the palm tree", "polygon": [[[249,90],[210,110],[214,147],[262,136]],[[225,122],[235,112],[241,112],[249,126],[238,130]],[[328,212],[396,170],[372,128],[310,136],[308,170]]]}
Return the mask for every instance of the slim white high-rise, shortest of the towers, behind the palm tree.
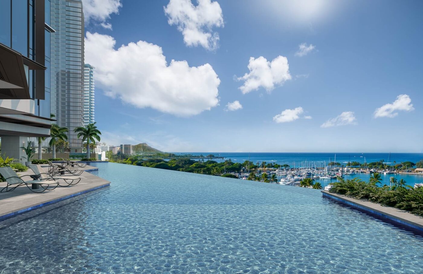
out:
{"label": "slim white high-rise, shortest of the towers, behind the palm tree", "polygon": [[[94,122],[94,67],[84,65],[84,93],[83,93],[82,125]],[[108,150],[108,149],[107,149]],[[106,151],[107,151],[106,150]]]}

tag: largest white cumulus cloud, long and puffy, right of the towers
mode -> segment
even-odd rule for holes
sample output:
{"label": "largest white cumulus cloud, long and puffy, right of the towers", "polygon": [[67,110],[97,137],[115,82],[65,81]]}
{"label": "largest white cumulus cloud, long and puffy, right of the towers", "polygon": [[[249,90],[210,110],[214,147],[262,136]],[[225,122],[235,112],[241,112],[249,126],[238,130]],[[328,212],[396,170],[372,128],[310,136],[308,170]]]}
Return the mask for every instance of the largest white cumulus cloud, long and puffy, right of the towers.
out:
{"label": "largest white cumulus cloud, long and puffy, right of the towers", "polygon": [[218,105],[220,79],[210,64],[168,64],[160,46],[138,41],[115,49],[115,43],[98,33],[88,32],[85,38],[85,62],[96,67],[96,83],[106,95],[184,117]]}

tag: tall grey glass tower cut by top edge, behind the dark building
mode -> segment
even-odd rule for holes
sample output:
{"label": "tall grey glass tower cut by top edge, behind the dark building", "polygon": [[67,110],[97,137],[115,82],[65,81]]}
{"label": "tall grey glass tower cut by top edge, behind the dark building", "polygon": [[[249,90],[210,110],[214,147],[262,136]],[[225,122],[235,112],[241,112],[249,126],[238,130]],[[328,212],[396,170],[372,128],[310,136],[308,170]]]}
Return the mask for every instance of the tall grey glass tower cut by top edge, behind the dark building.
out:
{"label": "tall grey glass tower cut by top edge, behind the dark building", "polygon": [[[54,89],[55,101],[52,112],[56,114],[59,126],[69,129],[69,147],[81,148],[82,142],[74,133],[82,126],[83,65],[84,65],[84,17],[81,0],[51,0],[53,14],[51,27],[56,30],[52,54],[55,60]],[[54,49],[53,49],[54,47]],[[53,56],[52,56],[53,58]]]}

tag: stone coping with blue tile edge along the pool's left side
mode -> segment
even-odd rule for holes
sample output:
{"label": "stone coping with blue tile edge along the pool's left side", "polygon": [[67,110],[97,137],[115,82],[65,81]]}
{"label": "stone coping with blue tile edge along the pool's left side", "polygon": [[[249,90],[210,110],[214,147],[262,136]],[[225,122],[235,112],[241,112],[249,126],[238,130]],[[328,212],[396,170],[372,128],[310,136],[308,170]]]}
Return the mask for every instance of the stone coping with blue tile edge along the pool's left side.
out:
{"label": "stone coping with blue tile edge along the pool's left side", "polygon": [[[88,165],[87,167],[83,168],[84,169],[84,173],[82,174],[82,176],[84,177],[84,179],[86,181],[88,181],[88,184],[84,184],[84,185],[74,185],[71,187],[66,187],[63,188],[63,191],[65,191],[66,193],[63,193],[63,195],[61,195],[62,193],[58,193],[58,195],[54,195],[53,197],[48,197],[47,195],[43,195],[43,198],[47,198],[47,199],[37,199],[40,197],[29,197],[27,199],[25,199],[25,201],[13,201],[11,203],[14,203],[14,205],[12,205],[12,209],[11,210],[5,210],[3,212],[0,211],[0,222],[2,220],[5,220],[7,218],[13,217],[15,215],[19,215],[22,214],[24,212],[28,212],[31,211],[33,209],[38,209],[47,205],[50,205],[52,203],[57,203],[69,198],[73,198],[75,196],[79,196],[94,190],[99,190],[102,189],[104,187],[110,186],[110,182],[107,180],[104,180],[98,176],[95,176],[93,174],[90,174],[86,171],[95,171],[98,170],[98,168],[93,167]],[[82,182],[82,181],[81,181]],[[75,188],[74,191],[72,191],[72,188]],[[60,189],[60,188],[59,188]],[[66,190],[64,190],[66,189]],[[71,190],[71,191],[67,191],[67,190]],[[54,191],[54,190],[53,190]],[[32,193],[27,193],[28,195],[31,195]],[[40,193],[36,193],[36,195],[39,195]],[[46,193],[47,194],[47,193]],[[47,196],[47,197],[45,197]],[[5,198],[5,200],[7,199],[15,199],[16,197],[11,197],[11,198]],[[32,199],[31,199],[32,198]],[[19,199],[19,198],[18,198]],[[36,201],[31,201],[31,200],[36,200]],[[40,201],[42,200],[42,201]]]}

